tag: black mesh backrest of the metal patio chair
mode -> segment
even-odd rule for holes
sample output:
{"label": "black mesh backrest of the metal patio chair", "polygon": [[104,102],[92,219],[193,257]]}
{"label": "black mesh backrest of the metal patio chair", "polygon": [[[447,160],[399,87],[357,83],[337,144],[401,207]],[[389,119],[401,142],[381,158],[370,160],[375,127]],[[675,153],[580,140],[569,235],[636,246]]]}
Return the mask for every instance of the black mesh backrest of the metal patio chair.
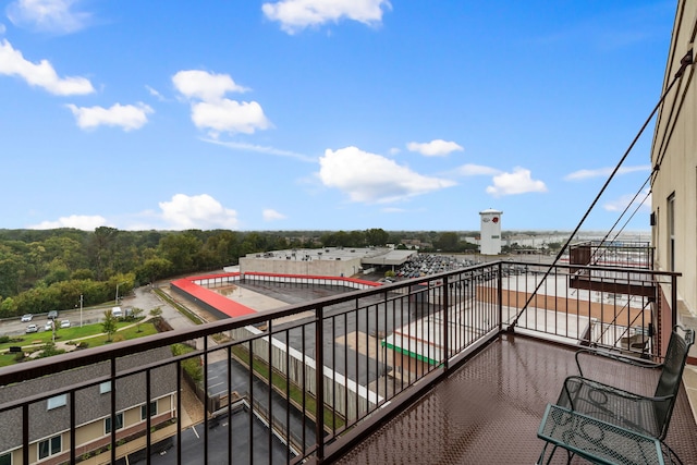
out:
{"label": "black mesh backrest of the metal patio chair", "polygon": [[665,438],[668,433],[668,426],[671,421],[673,406],[677,399],[685,363],[687,362],[687,352],[694,342],[694,330],[685,329],[681,326],[673,328],[671,339],[668,342],[668,350],[665,351],[663,369],[661,370],[655,394],[657,397],[669,397],[665,402],[655,403],[656,418],[661,429],[661,439]]}

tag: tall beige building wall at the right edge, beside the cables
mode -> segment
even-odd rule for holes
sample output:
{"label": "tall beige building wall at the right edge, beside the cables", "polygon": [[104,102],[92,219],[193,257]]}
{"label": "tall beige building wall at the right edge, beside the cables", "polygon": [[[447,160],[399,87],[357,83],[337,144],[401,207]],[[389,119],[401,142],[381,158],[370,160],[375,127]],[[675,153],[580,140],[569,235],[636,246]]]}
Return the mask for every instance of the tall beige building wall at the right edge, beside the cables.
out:
{"label": "tall beige building wall at the right edge, beside the cables", "polygon": [[[695,40],[697,2],[677,2],[663,91]],[[682,273],[678,313],[697,316],[697,76],[695,65],[671,89],[657,118],[651,164],[656,267]],[[672,204],[672,206],[671,206]],[[670,210],[672,209],[672,215]],[[672,220],[671,221],[671,217]]]}

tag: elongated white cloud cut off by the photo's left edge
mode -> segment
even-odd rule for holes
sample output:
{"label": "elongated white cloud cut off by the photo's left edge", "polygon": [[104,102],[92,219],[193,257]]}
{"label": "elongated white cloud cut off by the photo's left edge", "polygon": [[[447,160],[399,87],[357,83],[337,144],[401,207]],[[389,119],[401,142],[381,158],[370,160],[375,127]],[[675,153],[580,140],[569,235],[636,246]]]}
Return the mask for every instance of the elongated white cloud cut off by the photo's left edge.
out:
{"label": "elongated white cloud cut off by the photo's left edge", "polygon": [[85,95],[95,91],[85,77],[59,77],[47,60],[41,60],[38,64],[25,60],[22,52],[12,48],[4,39],[0,42],[0,74],[21,77],[28,85],[41,87],[54,95]]}

